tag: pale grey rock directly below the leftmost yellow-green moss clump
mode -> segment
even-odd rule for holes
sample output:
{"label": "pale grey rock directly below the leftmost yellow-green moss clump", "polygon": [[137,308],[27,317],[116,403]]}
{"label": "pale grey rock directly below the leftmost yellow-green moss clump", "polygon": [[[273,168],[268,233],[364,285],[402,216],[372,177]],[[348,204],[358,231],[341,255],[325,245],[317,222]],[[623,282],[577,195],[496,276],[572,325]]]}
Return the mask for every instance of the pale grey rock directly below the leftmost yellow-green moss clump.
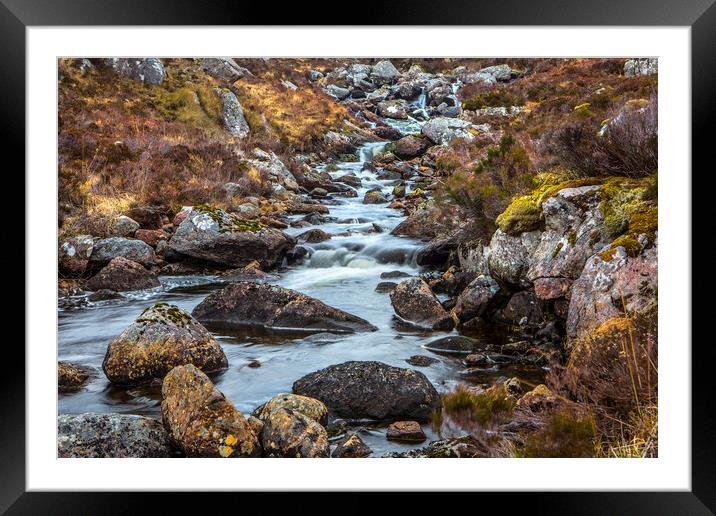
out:
{"label": "pale grey rock directly below the leftmost yellow-green moss clump", "polygon": [[539,231],[521,233],[512,236],[500,229],[490,240],[487,263],[490,275],[507,284],[527,287],[526,273],[530,265],[531,253],[540,241]]}

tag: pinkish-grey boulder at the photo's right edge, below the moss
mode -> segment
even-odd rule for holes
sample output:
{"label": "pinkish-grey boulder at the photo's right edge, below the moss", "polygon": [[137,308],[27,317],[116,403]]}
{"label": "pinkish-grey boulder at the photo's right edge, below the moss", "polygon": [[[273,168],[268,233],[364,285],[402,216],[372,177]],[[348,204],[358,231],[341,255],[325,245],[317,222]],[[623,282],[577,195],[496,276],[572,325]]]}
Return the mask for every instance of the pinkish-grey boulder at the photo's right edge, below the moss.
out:
{"label": "pinkish-grey boulder at the photo's right edge, below the moss", "polygon": [[656,304],[658,242],[630,257],[623,247],[602,257],[592,256],[572,285],[567,312],[567,336],[574,340],[602,323]]}

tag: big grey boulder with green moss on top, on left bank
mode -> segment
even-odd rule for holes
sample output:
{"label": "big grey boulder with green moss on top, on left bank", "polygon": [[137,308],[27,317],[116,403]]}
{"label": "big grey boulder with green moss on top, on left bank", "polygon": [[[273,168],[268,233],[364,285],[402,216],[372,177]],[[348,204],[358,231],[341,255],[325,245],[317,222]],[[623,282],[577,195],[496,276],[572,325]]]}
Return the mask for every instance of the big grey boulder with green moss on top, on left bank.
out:
{"label": "big grey boulder with green moss on top, on left bank", "polygon": [[218,208],[194,206],[169,240],[168,248],[230,267],[244,267],[257,260],[263,269],[268,269],[281,263],[293,243],[291,237],[277,229]]}

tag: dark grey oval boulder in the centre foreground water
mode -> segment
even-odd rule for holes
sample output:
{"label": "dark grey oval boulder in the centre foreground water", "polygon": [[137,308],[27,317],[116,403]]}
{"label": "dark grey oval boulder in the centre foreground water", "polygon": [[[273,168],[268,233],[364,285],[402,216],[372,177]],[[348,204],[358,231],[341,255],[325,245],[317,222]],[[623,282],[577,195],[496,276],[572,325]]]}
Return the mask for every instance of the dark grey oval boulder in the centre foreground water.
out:
{"label": "dark grey oval boulder in the centre foreground water", "polygon": [[424,374],[381,362],[344,362],[308,374],[293,392],[321,400],[330,414],[348,420],[427,421],[440,396]]}

